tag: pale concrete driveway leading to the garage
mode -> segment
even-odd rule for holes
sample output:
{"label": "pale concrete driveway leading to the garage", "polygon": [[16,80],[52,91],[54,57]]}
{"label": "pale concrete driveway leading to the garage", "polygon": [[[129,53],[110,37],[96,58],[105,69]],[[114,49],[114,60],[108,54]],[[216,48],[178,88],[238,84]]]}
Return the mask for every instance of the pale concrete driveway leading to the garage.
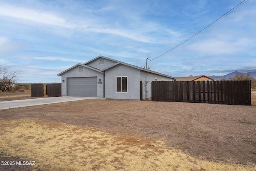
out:
{"label": "pale concrete driveway leading to the garage", "polygon": [[105,99],[105,98],[60,96],[60,97],[47,97],[47,98],[39,98],[39,99],[0,101],[0,109],[11,109],[11,108],[17,108],[17,107],[34,106],[34,105],[46,105],[51,103],[61,103],[66,101],[77,101],[77,100],[84,100],[84,99]]}

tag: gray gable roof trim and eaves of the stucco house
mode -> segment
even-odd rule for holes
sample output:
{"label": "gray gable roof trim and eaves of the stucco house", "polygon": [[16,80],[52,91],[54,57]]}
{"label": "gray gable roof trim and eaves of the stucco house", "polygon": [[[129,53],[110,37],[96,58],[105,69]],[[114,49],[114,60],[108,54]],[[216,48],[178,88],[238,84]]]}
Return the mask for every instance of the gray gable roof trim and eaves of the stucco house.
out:
{"label": "gray gable roof trim and eaves of the stucco house", "polygon": [[[98,59],[98,58],[104,58],[104,59],[111,60],[111,61],[116,62],[116,63],[113,64],[112,66],[108,66],[107,68],[104,68],[104,69],[102,69],[102,70],[98,70],[97,68],[94,68],[94,67],[91,67],[91,66],[88,66],[88,65],[87,65],[87,64],[89,64],[90,62],[92,62],[92,61],[94,61],[94,60],[96,60],[96,59]],[[106,70],[108,70],[108,69],[110,69],[110,68],[112,68],[112,67],[114,67],[114,66],[117,66],[117,65],[119,65],[119,64],[122,64],[122,65],[125,65],[125,66],[129,66],[129,67],[132,67],[132,68],[136,68],[136,69],[138,69],[138,70],[145,71],[145,72],[149,72],[149,73],[152,73],[152,74],[157,74],[157,75],[160,75],[160,76],[165,76],[165,77],[172,78],[172,79],[176,80],[176,78],[174,78],[174,77],[171,77],[171,76],[168,76],[168,75],[165,75],[165,74],[161,74],[161,73],[159,73],[159,72],[154,72],[154,71],[151,71],[151,70],[146,70],[146,69],[144,69],[144,68],[141,68],[141,67],[138,67],[138,66],[134,66],[134,65],[131,65],[131,64],[127,64],[127,63],[125,63],[125,62],[121,62],[121,61],[114,60],[114,59],[111,59],[111,58],[107,58],[107,57],[105,57],[105,56],[97,56],[96,58],[94,58],[94,59],[92,59],[92,60],[90,60],[90,61],[88,61],[88,62],[86,62],[86,63],[84,63],[84,64],[76,64],[75,66],[72,66],[71,68],[68,68],[67,70],[65,70],[65,71],[63,71],[63,72],[61,72],[60,74],[57,74],[57,75],[58,75],[58,76],[61,76],[61,74],[63,74],[64,72],[66,72],[66,71],[68,71],[68,70],[70,70],[70,69],[72,69],[72,68],[74,68],[74,67],[76,67],[76,66],[78,66],[78,65],[84,66],[84,67],[86,67],[86,68],[90,68],[90,69],[95,70],[95,71],[97,71],[97,72],[105,72]]]}

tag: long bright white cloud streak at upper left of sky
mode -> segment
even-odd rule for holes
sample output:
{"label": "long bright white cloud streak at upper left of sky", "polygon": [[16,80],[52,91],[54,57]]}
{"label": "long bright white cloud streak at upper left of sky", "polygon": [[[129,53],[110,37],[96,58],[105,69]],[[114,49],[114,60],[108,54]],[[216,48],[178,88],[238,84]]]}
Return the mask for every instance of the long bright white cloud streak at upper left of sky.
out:
{"label": "long bright white cloud streak at upper left of sky", "polygon": [[[100,11],[108,11],[111,10],[112,7],[106,7],[100,9]],[[86,11],[86,10],[85,10]],[[88,12],[96,12],[98,10],[87,10]],[[86,14],[84,14],[86,16]],[[134,41],[146,42],[146,43],[160,43],[164,42],[162,39],[152,37],[150,35],[151,32],[162,32],[166,35],[176,35],[177,33],[166,29],[159,28],[156,23],[147,22],[143,20],[136,21],[136,23],[144,23],[143,27],[138,27],[138,25],[134,24],[134,26],[129,26],[128,28],[124,28],[123,26],[117,25],[114,26],[112,23],[106,23],[104,20],[108,20],[107,17],[99,18],[98,16],[94,16],[90,14],[88,17],[70,15],[68,18],[62,16],[58,12],[46,11],[46,10],[38,10],[32,8],[24,8],[11,6],[8,4],[1,4],[0,6],[0,16],[16,18],[18,20],[27,20],[29,25],[38,26],[37,23],[48,25],[48,26],[58,26],[69,28],[73,30],[80,30],[82,32],[95,32],[102,34],[112,34],[117,36],[122,36],[124,38],[128,38]],[[133,20],[133,18],[130,18]],[[136,19],[137,20],[137,19]],[[32,23],[31,23],[32,22]],[[129,21],[127,21],[129,22]],[[62,30],[59,30],[62,32]],[[161,34],[162,34],[161,33]],[[64,32],[66,34],[66,32]],[[166,36],[165,35],[165,36]],[[165,41],[166,42],[166,41]]]}

